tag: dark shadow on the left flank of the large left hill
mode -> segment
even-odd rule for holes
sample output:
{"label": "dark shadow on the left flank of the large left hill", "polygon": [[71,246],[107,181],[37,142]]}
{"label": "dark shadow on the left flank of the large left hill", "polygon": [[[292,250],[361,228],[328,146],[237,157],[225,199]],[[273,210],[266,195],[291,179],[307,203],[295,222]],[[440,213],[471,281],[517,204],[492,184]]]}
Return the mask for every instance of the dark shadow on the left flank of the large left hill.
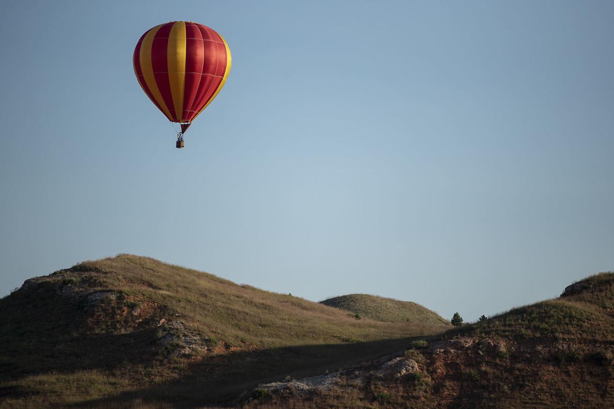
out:
{"label": "dark shadow on the left flank of the large left hill", "polygon": [[47,292],[0,300],[0,381],[49,372],[112,370],[155,357],[155,326],[121,334],[117,331],[122,323],[115,323],[116,327],[88,333],[82,331],[89,328],[85,310]]}

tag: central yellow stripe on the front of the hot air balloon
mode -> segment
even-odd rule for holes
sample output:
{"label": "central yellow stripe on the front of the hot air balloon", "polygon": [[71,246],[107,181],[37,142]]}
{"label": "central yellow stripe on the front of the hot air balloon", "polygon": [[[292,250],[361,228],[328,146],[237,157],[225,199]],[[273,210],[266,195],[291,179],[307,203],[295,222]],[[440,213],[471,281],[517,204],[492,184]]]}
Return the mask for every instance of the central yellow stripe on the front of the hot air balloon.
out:
{"label": "central yellow stripe on the front of the hot air balloon", "polygon": [[168,35],[168,80],[171,84],[173,105],[177,120],[185,122],[181,117],[184,110],[185,85],[185,22],[177,21]]}

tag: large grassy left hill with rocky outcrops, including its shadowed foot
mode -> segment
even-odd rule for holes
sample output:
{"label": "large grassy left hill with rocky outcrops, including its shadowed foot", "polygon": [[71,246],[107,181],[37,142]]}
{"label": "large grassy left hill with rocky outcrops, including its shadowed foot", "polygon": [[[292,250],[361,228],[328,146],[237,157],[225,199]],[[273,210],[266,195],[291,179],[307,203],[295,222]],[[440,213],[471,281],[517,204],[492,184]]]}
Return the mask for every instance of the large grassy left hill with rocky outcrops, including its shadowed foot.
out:
{"label": "large grassy left hill with rocky outcrops, including its shadowed foot", "polygon": [[356,319],[120,254],[0,299],[0,407],[199,407],[258,383],[359,364],[446,326]]}

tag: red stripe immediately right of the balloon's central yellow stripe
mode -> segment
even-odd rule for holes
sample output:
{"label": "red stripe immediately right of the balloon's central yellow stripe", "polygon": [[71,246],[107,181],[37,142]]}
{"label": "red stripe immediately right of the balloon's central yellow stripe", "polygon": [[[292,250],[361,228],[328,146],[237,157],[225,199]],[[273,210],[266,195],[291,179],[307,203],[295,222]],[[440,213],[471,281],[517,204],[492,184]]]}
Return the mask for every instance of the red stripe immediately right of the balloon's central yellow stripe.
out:
{"label": "red stripe immediately right of the balloon's central yellow stripe", "polygon": [[203,34],[195,23],[185,23],[185,82],[184,82],[184,112],[182,117],[185,120],[192,120],[193,105],[198,100],[195,100],[198,86],[200,85],[203,62],[204,62],[204,45]]}

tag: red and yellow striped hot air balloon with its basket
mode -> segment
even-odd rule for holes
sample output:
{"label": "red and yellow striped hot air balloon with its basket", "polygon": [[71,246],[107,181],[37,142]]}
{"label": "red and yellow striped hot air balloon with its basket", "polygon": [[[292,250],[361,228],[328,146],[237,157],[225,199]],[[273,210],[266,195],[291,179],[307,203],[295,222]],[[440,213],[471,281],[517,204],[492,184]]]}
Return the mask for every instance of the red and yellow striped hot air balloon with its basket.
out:
{"label": "red and yellow striped hot air balloon with its basket", "polygon": [[230,72],[230,48],[213,29],[171,21],[149,29],[134,48],[134,74],[169,121],[179,123],[177,148],[194,118],[211,104]]}

